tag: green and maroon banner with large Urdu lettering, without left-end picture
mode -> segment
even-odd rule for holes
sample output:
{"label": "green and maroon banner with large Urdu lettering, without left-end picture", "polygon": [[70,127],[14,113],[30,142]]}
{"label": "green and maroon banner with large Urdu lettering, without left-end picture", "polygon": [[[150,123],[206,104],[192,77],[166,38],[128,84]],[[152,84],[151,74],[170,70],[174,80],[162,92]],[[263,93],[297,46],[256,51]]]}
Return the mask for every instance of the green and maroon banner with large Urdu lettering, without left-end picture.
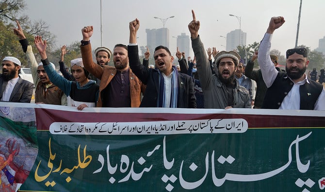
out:
{"label": "green and maroon banner with large Urdu lettering, without left-end picture", "polygon": [[32,106],[38,155],[19,191],[325,188],[324,111]]}

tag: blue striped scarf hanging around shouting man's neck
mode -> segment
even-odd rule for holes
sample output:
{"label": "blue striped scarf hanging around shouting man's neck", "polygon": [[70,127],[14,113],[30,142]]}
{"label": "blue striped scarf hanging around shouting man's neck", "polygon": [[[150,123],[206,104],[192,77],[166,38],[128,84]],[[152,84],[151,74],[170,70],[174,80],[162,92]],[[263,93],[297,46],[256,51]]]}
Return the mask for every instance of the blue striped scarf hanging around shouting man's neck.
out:
{"label": "blue striped scarf hanging around shouting man's neck", "polygon": [[179,82],[178,82],[178,76],[179,73],[177,72],[177,69],[175,66],[172,66],[173,72],[172,72],[172,90],[170,95],[166,95],[165,93],[165,86],[164,86],[164,79],[162,76],[162,72],[158,70],[160,76],[159,76],[159,93],[157,101],[157,107],[164,107],[166,102],[166,97],[170,96],[170,108],[177,108],[178,98],[179,98]]}

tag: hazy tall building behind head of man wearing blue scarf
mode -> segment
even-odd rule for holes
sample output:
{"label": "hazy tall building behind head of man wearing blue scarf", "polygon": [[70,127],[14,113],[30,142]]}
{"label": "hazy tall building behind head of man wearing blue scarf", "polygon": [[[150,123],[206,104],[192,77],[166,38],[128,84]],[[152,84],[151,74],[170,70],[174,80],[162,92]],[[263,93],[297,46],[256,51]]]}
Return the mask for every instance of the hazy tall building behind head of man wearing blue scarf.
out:
{"label": "hazy tall building behind head of man wearing blue scarf", "polygon": [[160,45],[169,48],[169,29],[146,29],[146,45],[151,50]]}

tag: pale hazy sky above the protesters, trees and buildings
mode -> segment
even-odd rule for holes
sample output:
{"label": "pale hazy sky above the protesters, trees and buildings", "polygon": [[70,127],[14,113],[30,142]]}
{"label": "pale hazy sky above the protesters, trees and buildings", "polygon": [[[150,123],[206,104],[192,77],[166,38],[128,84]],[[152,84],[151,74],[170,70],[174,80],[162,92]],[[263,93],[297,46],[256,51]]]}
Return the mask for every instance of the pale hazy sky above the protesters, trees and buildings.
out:
{"label": "pale hazy sky above the protesters, trees and buildings", "polygon": [[[57,36],[56,45],[69,45],[81,40],[81,28],[94,26],[91,38],[92,48],[100,46],[100,0],[25,0],[27,14],[32,20],[43,19]],[[145,29],[162,28],[160,19],[167,20],[165,27],[170,32],[170,51],[176,52],[176,38],[186,33],[194,9],[200,21],[199,35],[205,48],[224,50],[228,32],[239,29],[239,22],[233,14],[241,17],[241,29],[247,33],[247,45],[259,42],[271,17],[283,16],[284,25],[276,30],[272,48],[285,54],[295,45],[300,0],[102,0],[103,46],[113,50],[115,44],[129,43],[129,22],[140,20],[138,45],[146,46]],[[303,0],[298,45],[314,50],[320,38],[325,36],[325,0]],[[180,50],[181,51],[181,50]],[[193,53],[192,55],[193,56]]]}

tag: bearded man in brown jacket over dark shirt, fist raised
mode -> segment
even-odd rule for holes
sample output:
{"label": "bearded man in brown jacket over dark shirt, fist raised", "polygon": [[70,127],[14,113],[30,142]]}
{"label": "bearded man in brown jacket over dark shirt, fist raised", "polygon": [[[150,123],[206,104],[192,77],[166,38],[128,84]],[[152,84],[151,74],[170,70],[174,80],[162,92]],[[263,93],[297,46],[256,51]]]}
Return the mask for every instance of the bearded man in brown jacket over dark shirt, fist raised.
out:
{"label": "bearded man in brown jacket over dark shirt, fist raised", "polygon": [[113,50],[114,66],[101,67],[93,62],[90,37],[93,26],[82,28],[81,55],[84,68],[100,79],[97,107],[139,107],[141,92],[145,90],[141,81],[129,67],[128,47],[117,44]]}

